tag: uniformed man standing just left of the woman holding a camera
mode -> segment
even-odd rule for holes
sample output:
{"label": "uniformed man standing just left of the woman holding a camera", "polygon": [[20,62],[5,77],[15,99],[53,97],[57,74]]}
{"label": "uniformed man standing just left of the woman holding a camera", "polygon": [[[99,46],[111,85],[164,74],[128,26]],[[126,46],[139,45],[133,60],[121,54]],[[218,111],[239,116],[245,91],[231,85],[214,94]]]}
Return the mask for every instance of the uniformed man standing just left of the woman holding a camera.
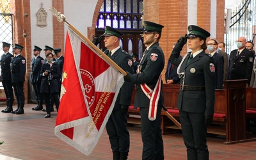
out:
{"label": "uniformed man standing just left of the woman holding a camera", "polygon": [[44,63],[44,58],[40,56],[40,52],[42,49],[36,45],[34,45],[34,58],[31,60],[31,76],[30,81],[33,85],[36,94],[36,102],[37,106],[32,108],[35,111],[40,111],[43,109],[43,100],[44,95],[40,92],[40,85],[41,85],[41,78],[40,78],[40,71],[42,64]]}

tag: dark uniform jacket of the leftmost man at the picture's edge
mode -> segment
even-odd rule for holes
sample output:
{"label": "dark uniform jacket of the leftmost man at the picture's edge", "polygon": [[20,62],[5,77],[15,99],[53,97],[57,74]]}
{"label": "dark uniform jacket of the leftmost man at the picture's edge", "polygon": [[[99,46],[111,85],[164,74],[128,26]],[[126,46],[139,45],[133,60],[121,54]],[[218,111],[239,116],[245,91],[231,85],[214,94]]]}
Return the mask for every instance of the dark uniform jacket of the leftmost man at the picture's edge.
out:
{"label": "dark uniform jacket of the leftmost man at the picture's edge", "polygon": [[3,54],[1,56],[1,79],[2,81],[11,81],[11,68],[10,63],[12,61],[13,55],[10,52]]}

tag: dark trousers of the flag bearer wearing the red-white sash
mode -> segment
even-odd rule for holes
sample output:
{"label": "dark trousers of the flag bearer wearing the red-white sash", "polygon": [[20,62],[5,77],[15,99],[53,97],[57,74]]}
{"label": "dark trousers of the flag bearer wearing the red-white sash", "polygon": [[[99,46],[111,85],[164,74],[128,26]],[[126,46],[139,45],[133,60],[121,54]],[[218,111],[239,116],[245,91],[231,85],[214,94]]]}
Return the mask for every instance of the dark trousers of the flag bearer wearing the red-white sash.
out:
{"label": "dark trousers of the flag bearer wearing the red-white sash", "polygon": [[148,109],[140,108],[142,159],[164,159],[164,145],[161,133],[161,106],[157,107],[156,120],[148,119]]}

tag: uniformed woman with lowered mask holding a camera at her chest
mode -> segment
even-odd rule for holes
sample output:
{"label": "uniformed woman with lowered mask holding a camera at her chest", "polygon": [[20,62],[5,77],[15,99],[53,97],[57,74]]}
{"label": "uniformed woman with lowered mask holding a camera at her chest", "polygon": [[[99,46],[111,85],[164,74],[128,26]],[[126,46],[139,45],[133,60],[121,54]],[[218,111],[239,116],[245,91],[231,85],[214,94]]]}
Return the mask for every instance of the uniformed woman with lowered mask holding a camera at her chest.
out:
{"label": "uniformed woman with lowered mask holding a camera at her chest", "polygon": [[51,104],[50,104],[50,94],[52,100],[56,105],[58,111],[60,104],[60,67],[56,63],[52,63],[53,54],[50,52],[46,55],[47,63],[44,63],[41,68],[40,76],[42,76],[41,82],[41,92],[44,93],[46,113],[45,118],[51,117]]}

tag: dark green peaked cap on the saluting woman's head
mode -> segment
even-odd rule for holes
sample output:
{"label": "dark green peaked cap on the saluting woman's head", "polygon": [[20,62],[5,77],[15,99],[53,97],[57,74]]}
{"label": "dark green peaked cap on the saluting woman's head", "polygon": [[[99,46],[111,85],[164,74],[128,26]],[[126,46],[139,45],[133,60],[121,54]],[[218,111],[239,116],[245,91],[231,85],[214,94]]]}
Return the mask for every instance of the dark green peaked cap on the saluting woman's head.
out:
{"label": "dark green peaked cap on the saluting woman's head", "polygon": [[206,40],[207,37],[211,36],[211,34],[208,31],[205,31],[205,29],[202,29],[195,25],[188,26],[188,31],[188,37],[195,35],[200,36]]}

